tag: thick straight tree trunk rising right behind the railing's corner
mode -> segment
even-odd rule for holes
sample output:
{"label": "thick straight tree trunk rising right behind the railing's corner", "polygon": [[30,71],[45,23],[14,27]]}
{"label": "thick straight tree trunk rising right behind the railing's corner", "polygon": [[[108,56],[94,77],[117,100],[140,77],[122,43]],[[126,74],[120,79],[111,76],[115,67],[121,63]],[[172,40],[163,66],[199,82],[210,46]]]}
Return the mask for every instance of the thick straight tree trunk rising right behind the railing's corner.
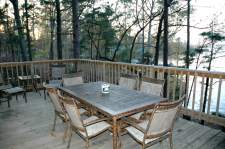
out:
{"label": "thick straight tree trunk rising right behind the railing's corner", "polygon": [[80,21],[79,21],[79,1],[72,0],[73,14],[73,57],[80,57]]}

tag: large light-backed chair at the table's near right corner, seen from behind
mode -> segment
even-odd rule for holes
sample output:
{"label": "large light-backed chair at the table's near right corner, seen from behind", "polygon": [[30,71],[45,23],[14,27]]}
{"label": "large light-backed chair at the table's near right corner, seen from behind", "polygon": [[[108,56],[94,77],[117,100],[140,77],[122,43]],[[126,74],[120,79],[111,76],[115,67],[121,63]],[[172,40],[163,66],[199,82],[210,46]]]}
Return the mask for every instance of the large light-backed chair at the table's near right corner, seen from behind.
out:
{"label": "large light-backed chair at the table's near right corner, seen from behind", "polygon": [[142,145],[142,149],[158,141],[169,138],[170,148],[173,148],[172,131],[176,115],[181,107],[183,98],[175,102],[160,103],[155,106],[153,113],[145,121],[135,124],[127,121],[128,133]]}

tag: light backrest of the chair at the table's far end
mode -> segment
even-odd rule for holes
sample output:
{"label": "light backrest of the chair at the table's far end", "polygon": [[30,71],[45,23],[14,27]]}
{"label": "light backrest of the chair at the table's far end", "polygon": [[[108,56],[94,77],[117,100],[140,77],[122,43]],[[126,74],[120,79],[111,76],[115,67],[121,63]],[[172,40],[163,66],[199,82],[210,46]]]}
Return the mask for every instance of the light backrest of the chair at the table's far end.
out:
{"label": "light backrest of the chair at the table's far end", "polygon": [[63,75],[63,85],[64,86],[72,86],[83,84],[82,72],[74,73],[74,74],[65,74]]}

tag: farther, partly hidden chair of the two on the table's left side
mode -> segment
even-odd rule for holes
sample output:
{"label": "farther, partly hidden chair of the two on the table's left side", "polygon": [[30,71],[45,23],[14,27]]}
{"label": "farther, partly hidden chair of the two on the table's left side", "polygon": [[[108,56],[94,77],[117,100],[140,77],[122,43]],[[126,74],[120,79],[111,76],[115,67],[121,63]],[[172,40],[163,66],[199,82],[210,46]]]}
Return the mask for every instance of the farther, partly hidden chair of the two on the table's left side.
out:
{"label": "farther, partly hidden chair of the two on the table's left side", "polygon": [[[49,94],[51,102],[54,106],[55,116],[54,116],[54,123],[53,123],[53,127],[52,127],[52,132],[53,132],[53,131],[55,131],[55,125],[56,125],[57,117],[59,117],[63,122],[67,122],[68,116],[65,112],[65,109],[62,105],[61,100],[59,100],[59,96],[58,96],[59,91],[56,88],[51,88],[51,87],[48,87],[48,86],[45,86],[45,87],[47,89],[47,92]],[[83,108],[79,109],[79,111],[82,114],[86,112],[86,110],[83,109]],[[65,129],[63,140],[65,140],[65,138],[66,138],[67,130],[68,130],[68,127]]]}

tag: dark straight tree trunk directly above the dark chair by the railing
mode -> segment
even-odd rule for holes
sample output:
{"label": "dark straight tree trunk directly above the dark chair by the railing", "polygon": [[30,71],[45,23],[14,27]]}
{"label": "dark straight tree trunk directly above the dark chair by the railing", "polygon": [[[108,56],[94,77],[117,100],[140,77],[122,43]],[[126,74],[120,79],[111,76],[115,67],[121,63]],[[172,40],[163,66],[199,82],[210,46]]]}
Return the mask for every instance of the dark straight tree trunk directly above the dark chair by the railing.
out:
{"label": "dark straight tree trunk directly above the dark chair by the railing", "polygon": [[62,27],[61,27],[61,10],[60,10],[60,0],[55,0],[56,7],[56,22],[57,22],[57,54],[58,59],[62,59]]}

